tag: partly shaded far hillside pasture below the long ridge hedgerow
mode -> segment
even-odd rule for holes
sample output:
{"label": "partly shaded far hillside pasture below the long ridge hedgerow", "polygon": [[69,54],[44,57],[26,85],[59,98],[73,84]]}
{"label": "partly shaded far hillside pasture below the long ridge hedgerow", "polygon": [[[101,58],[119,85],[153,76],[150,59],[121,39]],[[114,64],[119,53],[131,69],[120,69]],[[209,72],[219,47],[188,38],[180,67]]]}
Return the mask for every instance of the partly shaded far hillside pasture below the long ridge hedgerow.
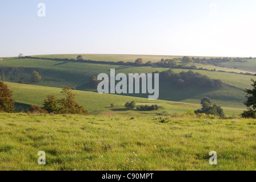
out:
{"label": "partly shaded far hillside pasture below the long ridge hedgerow", "polygon": [[[33,84],[30,81],[30,74],[31,72],[33,72],[33,70],[35,70],[38,71],[39,74],[42,76],[42,81],[36,85],[51,86],[57,88],[70,86],[70,88],[75,87],[78,90],[93,92],[95,92],[96,90],[86,88],[85,86],[86,82],[90,79],[90,75],[109,73],[111,68],[114,68],[116,73],[126,74],[151,73],[156,70],[165,71],[168,69],[154,67],[131,67],[121,65],[72,63],[69,61],[35,59],[2,60],[0,61],[0,65],[3,69],[11,69],[11,71],[6,71],[5,76],[2,76],[3,81],[18,82],[19,80],[24,80],[25,84]],[[13,69],[15,69],[15,71],[13,71]],[[174,71],[179,73],[187,70],[174,69]],[[243,92],[243,89],[250,87],[250,79],[254,76],[201,70],[196,70],[195,72],[199,72],[202,75],[207,75],[213,79],[220,79],[225,83],[225,86],[219,89],[191,88],[190,92],[187,92],[187,88],[180,89],[175,86],[171,86],[168,83],[161,84],[159,89],[161,92],[159,99],[198,104],[202,97],[210,97],[213,101],[217,102],[217,104],[225,107],[244,107],[243,102],[245,101],[245,93]],[[139,95],[138,97],[145,96]]]}

